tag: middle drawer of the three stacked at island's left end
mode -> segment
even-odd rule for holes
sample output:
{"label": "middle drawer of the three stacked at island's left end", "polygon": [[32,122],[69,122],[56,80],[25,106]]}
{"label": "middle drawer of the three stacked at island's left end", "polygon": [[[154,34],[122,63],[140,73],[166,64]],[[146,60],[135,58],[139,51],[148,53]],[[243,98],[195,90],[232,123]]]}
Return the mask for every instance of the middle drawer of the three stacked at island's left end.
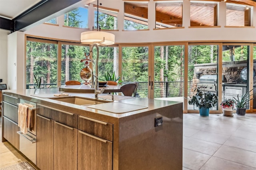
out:
{"label": "middle drawer of the three stacked at island's left end", "polygon": [[18,106],[3,102],[3,115],[18,123]]}

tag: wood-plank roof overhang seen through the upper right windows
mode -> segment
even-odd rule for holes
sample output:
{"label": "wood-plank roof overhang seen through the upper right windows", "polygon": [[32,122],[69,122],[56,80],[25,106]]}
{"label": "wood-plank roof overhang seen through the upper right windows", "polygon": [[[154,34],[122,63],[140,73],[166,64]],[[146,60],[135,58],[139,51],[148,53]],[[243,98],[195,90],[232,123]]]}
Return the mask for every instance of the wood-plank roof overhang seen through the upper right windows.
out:
{"label": "wood-plank roof overhang seen through the upper right windows", "polygon": [[[215,1],[220,0],[204,0]],[[256,0],[255,0],[256,1]],[[226,0],[227,3],[227,26],[250,26],[250,10],[256,6],[254,0]],[[171,5],[170,5],[171,4]],[[125,19],[147,25],[148,5],[146,3],[124,3]],[[182,2],[159,3],[156,1],[156,23],[158,28],[182,27]],[[194,3],[190,2],[190,26],[216,26],[217,3]]]}

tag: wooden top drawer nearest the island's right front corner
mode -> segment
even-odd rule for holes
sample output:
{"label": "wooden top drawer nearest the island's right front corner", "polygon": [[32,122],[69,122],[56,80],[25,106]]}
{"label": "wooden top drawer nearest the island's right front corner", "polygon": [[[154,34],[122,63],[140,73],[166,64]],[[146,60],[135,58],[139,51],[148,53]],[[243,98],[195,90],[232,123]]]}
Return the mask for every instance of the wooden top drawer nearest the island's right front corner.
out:
{"label": "wooden top drawer nearest the island's right front corner", "polygon": [[78,117],[78,129],[92,135],[113,141],[113,125],[84,116]]}

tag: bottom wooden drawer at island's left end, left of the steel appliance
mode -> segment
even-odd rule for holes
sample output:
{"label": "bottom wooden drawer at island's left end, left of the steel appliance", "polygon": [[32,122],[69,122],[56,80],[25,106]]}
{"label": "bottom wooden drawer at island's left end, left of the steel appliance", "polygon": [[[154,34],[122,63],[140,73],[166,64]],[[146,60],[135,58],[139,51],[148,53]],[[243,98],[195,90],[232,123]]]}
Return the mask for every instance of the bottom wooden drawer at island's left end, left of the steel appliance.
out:
{"label": "bottom wooden drawer at island's left end, left of the steel appliance", "polygon": [[3,137],[9,141],[16,149],[20,150],[20,131],[18,124],[3,116]]}

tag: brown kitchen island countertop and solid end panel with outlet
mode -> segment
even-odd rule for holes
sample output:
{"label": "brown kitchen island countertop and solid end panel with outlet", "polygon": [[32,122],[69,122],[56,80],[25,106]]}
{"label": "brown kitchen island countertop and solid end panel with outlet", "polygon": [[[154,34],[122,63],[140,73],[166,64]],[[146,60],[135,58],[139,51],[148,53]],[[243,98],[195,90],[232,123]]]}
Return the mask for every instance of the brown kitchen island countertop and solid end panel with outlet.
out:
{"label": "brown kitchen island countertop and solid end panel with outlet", "polygon": [[[90,108],[49,99],[54,97],[54,94],[60,94],[56,88],[4,90],[3,94],[37,103],[38,107],[40,104],[40,108],[46,106],[74,113],[78,115],[78,119],[82,116],[112,125],[112,153],[110,153],[112,168],[110,169],[182,170],[183,106],[181,102],[132,97],[115,100],[114,103],[118,103],[118,107],[110,108],[113,110],[111,112],[103,111],[104,109],[100,108],[101,104],[98,104],[97,108]],[[68,92],[68,94],[94,98],[94,93]],[[121,110],[126,105],[143,106],[143,109],[114,113],[114,110]],[[162,124],[160,123],[159,126],[156,126],[157,119],[162,119]],[[78,130],[81,131],[79,128]]]}

